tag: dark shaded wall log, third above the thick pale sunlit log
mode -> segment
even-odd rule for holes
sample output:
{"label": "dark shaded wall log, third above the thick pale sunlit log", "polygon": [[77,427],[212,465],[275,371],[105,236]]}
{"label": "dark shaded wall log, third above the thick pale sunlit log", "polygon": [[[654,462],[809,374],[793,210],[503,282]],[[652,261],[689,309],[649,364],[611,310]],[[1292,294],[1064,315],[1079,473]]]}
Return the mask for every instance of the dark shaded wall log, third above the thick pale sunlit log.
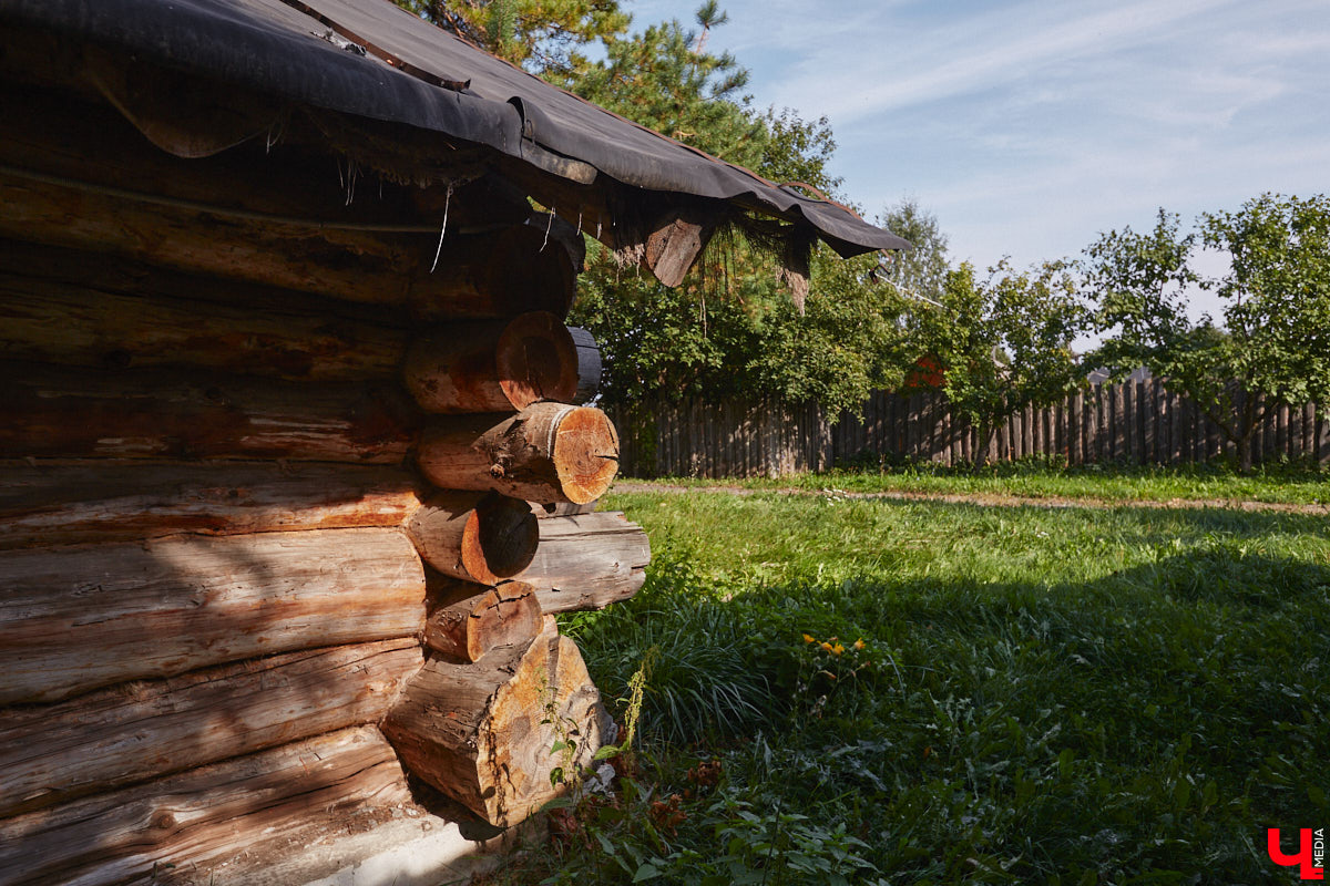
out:
{"label": "dark shaded wall log, third above the thick pale sunlit log", "polygon": [[[4,252],[13,252],[12,243]],[[74,259],[77,267],[77,259]],[[8,259],[4,264],[15,264]],[[96,278],[97,256],[84,256]],[[61,276],[80,276],[63,274]],[[189,279],[174,280],[185,287]],[[231,284],[231,288],[241,288]],[[0,272],[0,352],[12,360],[80,367],[203,367],[307,380],[388,379],[406,333],[269,306],[125,295],[93,280]]]}

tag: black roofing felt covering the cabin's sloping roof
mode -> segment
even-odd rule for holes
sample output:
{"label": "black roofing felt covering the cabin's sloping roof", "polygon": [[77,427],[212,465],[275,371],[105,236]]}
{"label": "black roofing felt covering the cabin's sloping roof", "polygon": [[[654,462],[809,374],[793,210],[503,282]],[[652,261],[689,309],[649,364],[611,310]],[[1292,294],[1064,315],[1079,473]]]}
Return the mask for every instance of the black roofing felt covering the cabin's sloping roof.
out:
{"label": "black roofing felt covering the cabin's sloping roof", "polygon": [[[5,19],[314,108],[444,133],[549,171],[560,169],[549,162],[557,155],[626,185],[802,217],[843,255],[908,247],[839,206],[551,86],[388,0],[0,0]],[[325,23],[447,85],[339,48],[323,39]]]}

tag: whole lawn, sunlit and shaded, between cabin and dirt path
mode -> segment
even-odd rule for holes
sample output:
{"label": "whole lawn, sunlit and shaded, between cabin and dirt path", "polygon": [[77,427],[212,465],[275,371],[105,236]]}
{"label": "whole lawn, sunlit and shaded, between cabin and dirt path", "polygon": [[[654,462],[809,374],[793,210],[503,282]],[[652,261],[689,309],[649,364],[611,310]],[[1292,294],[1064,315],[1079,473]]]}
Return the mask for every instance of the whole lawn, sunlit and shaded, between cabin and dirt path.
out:
{"label": "whole lawn, sunlit and shaded, between cabin and dirt path", "polygon": [[646,587],[564,627],[621,720],[645,673],[628,777],[505,882],[1295,882],[1266,828],[1330,825],[1325,517],[605,507]]}

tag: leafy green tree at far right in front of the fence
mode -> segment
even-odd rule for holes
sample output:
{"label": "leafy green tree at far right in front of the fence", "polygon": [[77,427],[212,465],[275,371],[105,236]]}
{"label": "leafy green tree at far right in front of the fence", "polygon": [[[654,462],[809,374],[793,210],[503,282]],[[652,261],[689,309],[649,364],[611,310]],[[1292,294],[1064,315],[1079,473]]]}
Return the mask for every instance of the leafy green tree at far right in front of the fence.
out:
{"label": "leafy green tree at far right in front of the fence", "polygon": [[[1232,268],[1202,279],[1190,268],[1198,235],[1160,210],[1154,230],[1109,231],[1085,250],[1096,360],[1117,375],[1146,365],[1253,464],[1252,437],[1270,409],[1330,396],[1330,201],[1265,194],[1237,213],[1205,214],[1202,242]],[[1222,325],[1186,316],[1186,287],[1224,300]]]}

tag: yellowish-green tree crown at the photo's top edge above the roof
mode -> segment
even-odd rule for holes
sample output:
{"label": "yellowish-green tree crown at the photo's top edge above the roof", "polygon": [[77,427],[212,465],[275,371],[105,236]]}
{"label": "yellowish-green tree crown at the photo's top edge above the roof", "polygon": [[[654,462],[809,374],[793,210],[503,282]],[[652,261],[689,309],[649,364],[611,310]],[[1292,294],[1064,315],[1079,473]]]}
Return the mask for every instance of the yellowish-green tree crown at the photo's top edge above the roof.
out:
{"label": "yellowish-green tree crown at the photo's top edge above the roof", "polygon": [[587,64],[583,49],[628,32],[618,0],[396,0],[432,21],[537,74]]}

